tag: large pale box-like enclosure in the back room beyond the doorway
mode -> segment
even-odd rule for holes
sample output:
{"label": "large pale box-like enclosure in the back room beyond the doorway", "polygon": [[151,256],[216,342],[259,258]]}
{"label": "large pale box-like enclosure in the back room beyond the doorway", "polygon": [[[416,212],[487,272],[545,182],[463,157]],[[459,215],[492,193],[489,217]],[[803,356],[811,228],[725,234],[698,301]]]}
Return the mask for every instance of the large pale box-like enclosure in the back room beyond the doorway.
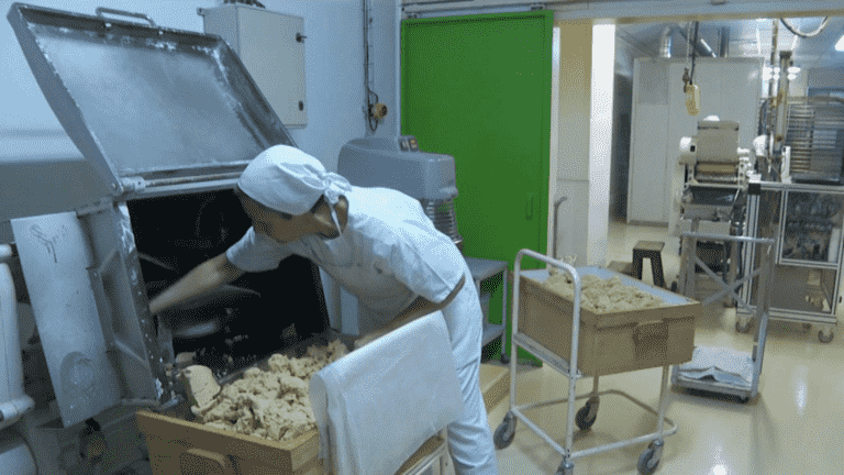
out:
{"label": "large pale box-like enclosure in the back room beyond the doorway", "polygon": [[679,144],[693,135],[698,120],[718,115],[738,121],[738,146],[756,136],[762,90],[759,58],[697,58],[695,84],[700,113],[689,115],[682,90],[685,59],[636,58],[633,73],[633,118],[628,186],[628,222],[666,224],[673,199],[682,186]]}

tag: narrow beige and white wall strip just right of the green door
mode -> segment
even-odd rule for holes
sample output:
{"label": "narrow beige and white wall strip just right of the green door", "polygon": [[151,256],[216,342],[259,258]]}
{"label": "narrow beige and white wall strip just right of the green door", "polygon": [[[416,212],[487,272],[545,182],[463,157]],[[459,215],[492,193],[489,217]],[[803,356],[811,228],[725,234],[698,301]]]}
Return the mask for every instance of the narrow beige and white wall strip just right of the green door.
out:
{"label": "narrow beige and white wall strip just right of the green door", "polygon": [[[558,258],[602,265],[607,253],[612,150],[614,25],[555,22],[559,27],[556,194]],[[591,118],[591,119],[590,119]]]}

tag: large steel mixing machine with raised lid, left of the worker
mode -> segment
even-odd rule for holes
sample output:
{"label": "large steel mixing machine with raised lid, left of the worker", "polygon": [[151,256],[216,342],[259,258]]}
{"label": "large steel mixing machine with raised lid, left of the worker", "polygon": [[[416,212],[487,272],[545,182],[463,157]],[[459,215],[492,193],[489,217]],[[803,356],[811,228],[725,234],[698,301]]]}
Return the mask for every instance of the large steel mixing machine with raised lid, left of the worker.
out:
{"label": "large steel mixing machine with raised lid, left of the worker", "polygon": [[[37,154],[0,172],[0,220],[14,233],[0,259],[13,276],[0,327],[15,305],[36,322],[23,357],[0,360],[13,379],[26,375],[14,382],[25,395],[0,391],[20,408],[0,400],[0,472],[14,462],[23,474],[147,473],[133,415],[176,401],[177,355],[223,375],[327,329],[319,273],[299,258],[180,311],[148,311],[248,228],[232,188],[249,159],[295,143],[219,36],[106,9],[15,3],[8,19],[82,157],[62,164],[65,181]],[[57,189],[40,192],[49,180]],[[45,207],[59,212],[34,211]],[[11,333],[0,345],[20,347]]]}

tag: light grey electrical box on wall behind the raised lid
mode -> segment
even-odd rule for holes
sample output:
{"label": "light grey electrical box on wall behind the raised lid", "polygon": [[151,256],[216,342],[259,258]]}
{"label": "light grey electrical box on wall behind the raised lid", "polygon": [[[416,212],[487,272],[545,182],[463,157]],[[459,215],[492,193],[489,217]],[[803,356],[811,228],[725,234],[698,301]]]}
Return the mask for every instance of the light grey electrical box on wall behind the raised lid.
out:
{"label": "light grey electrical box on wall behind the raised lid", "polygon": [[200,8],[206,33],[220,35],[287,128],[308,124],[304,19],[241,3]]}

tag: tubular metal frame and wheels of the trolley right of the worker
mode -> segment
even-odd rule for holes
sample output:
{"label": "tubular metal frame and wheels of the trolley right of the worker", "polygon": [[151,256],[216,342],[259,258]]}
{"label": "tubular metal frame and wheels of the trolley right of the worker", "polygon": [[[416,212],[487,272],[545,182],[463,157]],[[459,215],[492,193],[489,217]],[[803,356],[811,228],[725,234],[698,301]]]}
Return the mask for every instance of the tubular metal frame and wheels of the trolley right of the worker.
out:
{"label": "tubular metal frame and wheels of the trolley right of the worker", "polygon": [[[522,259],[522,256],[524,255],[545,262],[547,264],[554,265],[567,272],[574,280],[575,299],[574,299],[574,308],[573,308],[571,354],[568,361],[557,356],[556,354],[545,349],[544,346],[542,346],[540,343],[537,343],[526,334],[519,333],[519,284],[520,284],[520,275],[521,275],[521,259]],[[577,369],[577,353],[578,353],[579,328],[580,328],[580,294],[581,294],[580,277],[578,276],[577,270],[573,266],[565,264],[563,262],[548,258],[542,254],[538,254],[530,250],[522,250],[517,255],[515,275],[513,280],[514,280],[513,318],[512,318],[512,329],[511,329],[511,335],[510,335],[510,342],[511,342],[510,344],[510,352],[511,352],[510,410],[504,416],[504,419],[501,422],[501,424],[495,431],[493,440],[496,443],[496,448],[506,449],[513,442],[513,439],[515,437],[517,423],[521,421],[563,456],[563,461],[557,467],[556,475],[574,475],[576,459],[595,455],[602,452],[619,450],[626,446],[647,442],[648,446],[640,456],[637,468],[640,473],[643,475],[653,474],[658,467],[659,461],[663,456],[665,438],[673,435],[677,432],[677,424],[675,424],[674,421],[665,417],[665,411],[667,409],[666,398],[668,393],[669,367],[668,366],[663,367],[662,384],[659,388],[659,402],[658,402],[657,410],[654,410],[653,408],[635,399],[634,397],[632,397],[626,393],[614,390],[614,389],[608,389],[602,391],[599,390],[598,377],[595,377],[593,384],[592,384],[592,390],[589,394],[577,396],[576,395],[577,379],[584,377],[584,375]],[[566,375],[569,382],[568,397],[564,399],[555,399],[555,400],[518,406],[517,405],[517,399],[518,399],[517,384],[515,384],[515,377],[517,377],[515,353],[518,351],[517,350],[518,347],[524,347],[526,351],[537,356],[541,361],[543,361],[548,366]],[[609,395],[622,396],[628,400],[630,400],[631,402],[633,402],[634,405],[641,407],[645,411],[654,415],[657,421],[656,430],[652,433],[640,435],[633,439],[618,441],[614,443],[609,443],[609,444],[604,444],[604,445],[600,445],[600,446],[596,446],[596,448],[591,448],[582,451],[574,451],[573,445],[574,445],[575,424],[577,424],[577,427],[580,430],[589,430],[598,417],[598,407],[599,407],[601,397],[609,396]],[[579,411],[577,411],[577,413],[575,413],[575,401],[578,399],[587,399],[587,402]],[[557,441],[555,441],[547,433],[545,433],[536,423],[534,423],[525,415],[525,411],[531,409],[536,409],[536,408],[553,406],[553,405],[562,405],[562,404],[566,404],[568,406],[568,412],[566,417],[565,446],[559,445]],[[670,426],[668,429],[665,428],[666,423]]]}

